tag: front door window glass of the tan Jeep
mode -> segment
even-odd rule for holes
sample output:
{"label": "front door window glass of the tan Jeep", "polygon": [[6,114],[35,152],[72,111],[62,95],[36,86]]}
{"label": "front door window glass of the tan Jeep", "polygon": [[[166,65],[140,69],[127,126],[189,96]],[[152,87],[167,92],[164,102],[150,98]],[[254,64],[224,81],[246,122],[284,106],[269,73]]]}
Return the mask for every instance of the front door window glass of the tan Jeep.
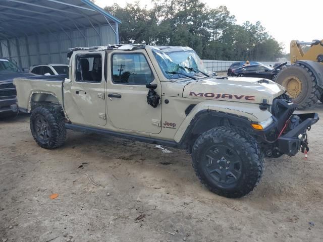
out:
{"label": "front door window glass of the tan Jeep", "polygon": [[154,77],[143,54],[114,54],[112,81],[116,84],[146,85]]}

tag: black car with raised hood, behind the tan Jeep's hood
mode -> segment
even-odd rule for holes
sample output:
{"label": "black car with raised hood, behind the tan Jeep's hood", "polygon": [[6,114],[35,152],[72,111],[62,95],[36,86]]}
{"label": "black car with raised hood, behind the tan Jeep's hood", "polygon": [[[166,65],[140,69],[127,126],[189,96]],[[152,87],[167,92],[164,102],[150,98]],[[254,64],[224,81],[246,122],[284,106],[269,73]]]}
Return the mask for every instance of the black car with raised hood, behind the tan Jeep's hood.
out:
{"label": "black car with raised hood, behind the tan Jeep's hood", "polygon": [[251,65],[240,67],[238,69],[232,70],[231,76],[236,77],[258,77],[265,78],[270,80],[275,80],[277,74],[280,72],[281,67],[285,66],[287,62],[282,63],[281,65],[271,68],[263,65]]}

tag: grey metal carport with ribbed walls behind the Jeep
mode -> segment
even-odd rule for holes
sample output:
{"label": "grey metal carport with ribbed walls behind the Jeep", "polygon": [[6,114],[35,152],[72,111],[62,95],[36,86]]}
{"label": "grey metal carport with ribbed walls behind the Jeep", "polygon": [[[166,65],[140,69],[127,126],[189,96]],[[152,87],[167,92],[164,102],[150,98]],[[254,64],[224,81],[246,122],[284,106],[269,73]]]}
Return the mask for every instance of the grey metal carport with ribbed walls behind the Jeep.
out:
{"label": "grey metal carport with ribbed walls behind the Jeep", "polygon": [[68,48],[119,43],[119,19],[89,0],[0,0],[0,57],[67,63]]}

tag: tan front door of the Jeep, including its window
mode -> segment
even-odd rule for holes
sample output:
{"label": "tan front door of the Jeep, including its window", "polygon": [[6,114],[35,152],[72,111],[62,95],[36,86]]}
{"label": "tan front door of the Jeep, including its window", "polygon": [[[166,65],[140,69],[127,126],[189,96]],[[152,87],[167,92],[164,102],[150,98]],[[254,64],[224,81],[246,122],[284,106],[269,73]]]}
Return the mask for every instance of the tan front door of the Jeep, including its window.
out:
{"label": "tan front door of the Jeep, including its window", "polygon": [[147,103],[146,84],[160,82],[145,50],[113,52],[109,54],[107,77],[107,115],[116,128],[157,134],[161,131],[161,107]]}

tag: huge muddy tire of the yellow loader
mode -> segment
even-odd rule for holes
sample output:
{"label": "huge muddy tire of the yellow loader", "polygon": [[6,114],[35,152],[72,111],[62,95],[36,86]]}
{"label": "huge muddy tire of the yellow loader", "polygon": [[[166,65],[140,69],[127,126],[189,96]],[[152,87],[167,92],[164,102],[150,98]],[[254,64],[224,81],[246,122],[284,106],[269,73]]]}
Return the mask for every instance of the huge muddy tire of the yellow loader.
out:
{"label": "huge muddy tire of the yellow loader", "polygon": [[290,80],[301,83],[299,94],[295,94],[294,97],[290,95],[292,102],[298,104],[298,109],[310,107],[320,98],[321,88],[318,87],[314,74],[304,65],[298,63],[283,69],[275,81],[288,91],[287,85]]}

